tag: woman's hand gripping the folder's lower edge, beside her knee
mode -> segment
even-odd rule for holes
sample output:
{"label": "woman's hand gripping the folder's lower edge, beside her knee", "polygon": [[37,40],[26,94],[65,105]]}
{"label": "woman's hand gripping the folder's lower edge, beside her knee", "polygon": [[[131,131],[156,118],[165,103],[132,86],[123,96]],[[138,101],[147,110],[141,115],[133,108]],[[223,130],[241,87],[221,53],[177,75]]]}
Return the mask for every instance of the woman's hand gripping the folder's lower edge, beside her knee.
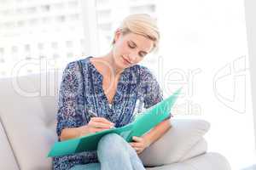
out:
{"label": "woman's hand gripping the folder's lower edge, beside her knee", "polygon": [[132,137],[133,142],[130,142],[131,147],[136,150],[137,154],[140,154],[149,146],[149,142],[147,139],[144,139],[143,137],[137,137],[133,136]]}

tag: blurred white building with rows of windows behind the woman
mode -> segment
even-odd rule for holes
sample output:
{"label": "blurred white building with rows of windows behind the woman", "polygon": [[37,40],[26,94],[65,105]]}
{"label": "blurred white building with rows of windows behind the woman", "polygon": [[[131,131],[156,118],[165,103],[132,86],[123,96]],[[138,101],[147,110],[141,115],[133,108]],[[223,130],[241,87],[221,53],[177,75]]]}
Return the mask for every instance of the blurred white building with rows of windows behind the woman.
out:
{"label": "blurred white building with rows of windows behind the woman", "polygon": [[11,76],[17,65],[19,75],[42,71],[42,60],[48,70],[62,68],[88,54],[91,44],[98,46],[98,54],[106,53],[125,15],[155,16],[156,11],[154,0],[88,2],[0,0],[0,77]]}

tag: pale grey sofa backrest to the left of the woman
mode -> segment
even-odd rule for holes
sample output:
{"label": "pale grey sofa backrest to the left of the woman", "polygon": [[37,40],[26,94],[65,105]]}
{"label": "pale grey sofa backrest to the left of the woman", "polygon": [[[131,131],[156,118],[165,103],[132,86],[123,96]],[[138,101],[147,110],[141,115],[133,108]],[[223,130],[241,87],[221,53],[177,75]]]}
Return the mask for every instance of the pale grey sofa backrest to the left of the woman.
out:
{"label": "pale grey sofa backrest to the left of the woman", "polygon": [[0,117],[20,169],[51,169],[60,80],[60,72],[0,79]]}

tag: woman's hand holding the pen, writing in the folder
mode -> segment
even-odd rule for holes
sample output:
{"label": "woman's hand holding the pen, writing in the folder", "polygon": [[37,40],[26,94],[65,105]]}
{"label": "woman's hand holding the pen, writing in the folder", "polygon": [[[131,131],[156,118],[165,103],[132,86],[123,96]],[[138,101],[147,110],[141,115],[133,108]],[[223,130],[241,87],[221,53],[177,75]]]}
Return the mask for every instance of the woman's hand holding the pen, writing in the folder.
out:
{"label": "woman's hand holding the pen, writing in the folder", "polygon": [[102,130],[107,130],[113,128],[114,123],[108,121],[104,117],[92,117],[87,125],[79,127],[79,136],[84,136],[90,133],[101,132]]}

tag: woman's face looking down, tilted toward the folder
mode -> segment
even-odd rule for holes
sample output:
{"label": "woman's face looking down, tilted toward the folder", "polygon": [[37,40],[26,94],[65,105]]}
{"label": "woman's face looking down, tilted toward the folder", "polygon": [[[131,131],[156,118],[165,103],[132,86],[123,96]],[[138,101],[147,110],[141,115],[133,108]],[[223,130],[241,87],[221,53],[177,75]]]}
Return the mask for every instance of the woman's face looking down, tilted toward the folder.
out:
{"label": "woman's face looking down, tilted toward the folder", "polygon": [[152,40],[134,33],[123,35],[116,31],[114,40],[113,60],[119,69],[136,65],[154,48]]}

